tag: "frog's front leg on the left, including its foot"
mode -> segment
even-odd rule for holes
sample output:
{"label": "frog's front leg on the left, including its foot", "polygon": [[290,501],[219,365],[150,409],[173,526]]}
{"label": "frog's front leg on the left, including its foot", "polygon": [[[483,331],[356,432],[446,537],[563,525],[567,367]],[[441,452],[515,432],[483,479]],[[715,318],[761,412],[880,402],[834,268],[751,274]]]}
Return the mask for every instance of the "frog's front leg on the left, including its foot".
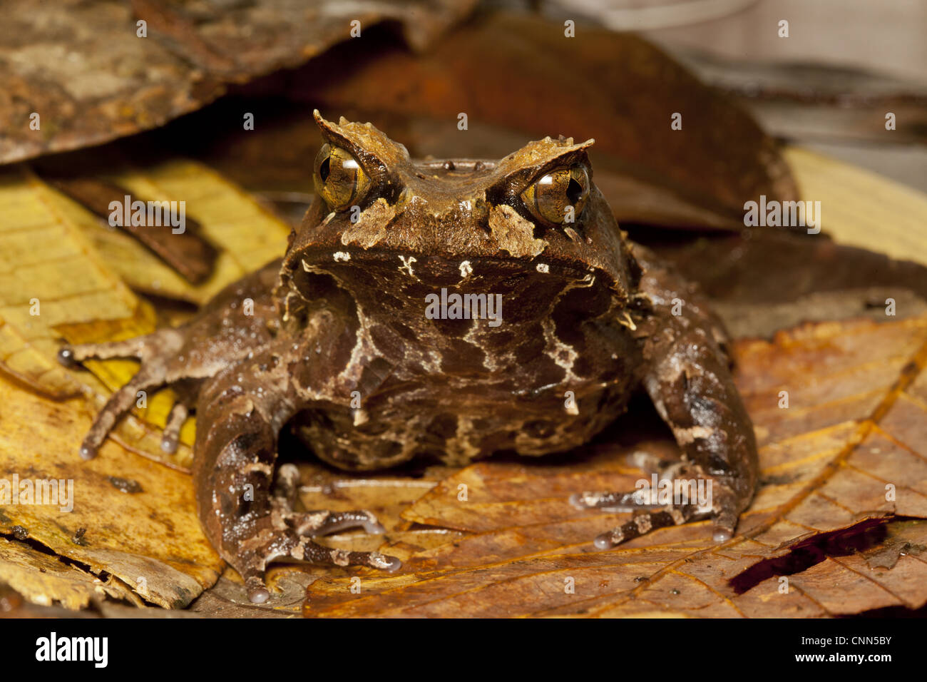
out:
{"label": "frog's front leg on the left, including its foot", "polygon": [[[243,387],[258,387],[260,392]],[[269,352],[230,367],[210,380],[197,405],[194,485],[200,521],[213,547],[245,580],[248,598],[270,598],[264,572],[274,560],[395,571],[400,561],[379,552],[349,552],[312,538],[363,528],[383,533],[373,514],[293,509],[293,471],[274,479],[277,434],[299,408],[286,378],[286,362]]]}

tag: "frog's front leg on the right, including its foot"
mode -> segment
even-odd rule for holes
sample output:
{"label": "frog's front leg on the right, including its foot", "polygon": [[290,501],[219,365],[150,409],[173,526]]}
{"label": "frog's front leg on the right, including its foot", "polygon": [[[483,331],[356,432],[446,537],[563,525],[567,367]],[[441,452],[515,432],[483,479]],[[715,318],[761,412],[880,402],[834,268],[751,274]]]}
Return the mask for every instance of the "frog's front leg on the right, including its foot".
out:
{"label": "frog's front leg on the right, including its foot", "polygon": [[648,251],[635,247],[634,255],[644,272],[645,314],[638,317],[636,329],[644,362],[642,381],[681,450],[680,462],[660,467],[660,473],[692,482],[693,488],[680,488],[690,493],[698,480],[704,480],[703,490],[710,490],[710,497],[693,499],[690,494],[659,507],[650,495],[634,491],[584,493],[574,502],[641,512],[596,538],[597,547],[613,547],[655,528],[705,516],[714,522],[715,541],[724,542],[750,504],[758,475],[753,424],[731,377],[725,333],[694,287]]}

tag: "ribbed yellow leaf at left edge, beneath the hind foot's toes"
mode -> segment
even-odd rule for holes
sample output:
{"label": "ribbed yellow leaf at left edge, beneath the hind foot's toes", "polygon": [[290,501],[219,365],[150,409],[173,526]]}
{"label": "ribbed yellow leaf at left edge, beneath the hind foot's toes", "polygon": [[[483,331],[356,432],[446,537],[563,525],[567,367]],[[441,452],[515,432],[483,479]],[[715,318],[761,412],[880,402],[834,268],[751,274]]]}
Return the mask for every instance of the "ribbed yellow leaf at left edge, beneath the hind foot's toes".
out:
{"label": "ribbed yellow leaf at left edge, beneath the hind foot's toes", "polygon": [[[61,200],[24,169],[0,173],[0,375],[54,400],[83,395],[91,414],[107,399],[107,387],[124,383],[135,364],[91,364],[100,379],[70,373],[55,359],[62,336],[71,342],[127,338],[151,331],[155,319],[61,211]],[[144,416],[163,424],[170,408],[170,394],[159,394]],[[189,430],[172,457],[160,453],[159,434],[146,421],[127,418],[114,437],[177,466],[190,460]]]}

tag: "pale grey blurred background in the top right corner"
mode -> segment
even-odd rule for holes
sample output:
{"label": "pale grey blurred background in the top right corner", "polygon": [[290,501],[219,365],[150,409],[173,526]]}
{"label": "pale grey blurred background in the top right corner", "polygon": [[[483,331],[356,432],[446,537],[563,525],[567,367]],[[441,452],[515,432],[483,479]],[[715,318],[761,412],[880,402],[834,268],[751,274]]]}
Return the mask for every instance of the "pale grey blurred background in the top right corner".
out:
{"label": "pale grey blurred background in the top right corner", "polygon": [[[499,3],[501,6],[509,5]],[[541,2],[636,31],[736,94],[774,135],[927,191],[927,3],[921,0],[574,0]],[[779,22],[789,21],[789,37]],[[892,105],[920,135],[873,135]],[[884,109],[884,106],[883,106]]]}

